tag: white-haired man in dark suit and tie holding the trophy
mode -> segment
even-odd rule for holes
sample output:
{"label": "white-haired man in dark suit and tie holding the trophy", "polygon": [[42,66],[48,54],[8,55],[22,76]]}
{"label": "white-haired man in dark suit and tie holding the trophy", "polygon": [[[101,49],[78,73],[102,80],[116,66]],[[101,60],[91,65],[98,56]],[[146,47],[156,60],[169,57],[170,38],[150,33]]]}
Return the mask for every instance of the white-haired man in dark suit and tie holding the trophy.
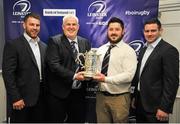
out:
{"label": "white-haired man in dark suit and tie holding the trophy", "polygon": [[[77,36],[78,18],[63,18],[63,34],[49,39],[47,47],[47,89],[50,122],[85,122],[85,82],[76,63],[77,52],[90,50],[87,39]],[[81,81],[81,82],[80,82]]]}

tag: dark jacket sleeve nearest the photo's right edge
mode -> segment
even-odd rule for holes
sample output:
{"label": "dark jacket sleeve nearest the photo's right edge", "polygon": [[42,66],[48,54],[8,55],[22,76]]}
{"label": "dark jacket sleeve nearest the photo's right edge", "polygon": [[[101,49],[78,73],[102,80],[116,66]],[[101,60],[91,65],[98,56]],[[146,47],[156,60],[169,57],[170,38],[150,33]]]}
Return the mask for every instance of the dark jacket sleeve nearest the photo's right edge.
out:
{"label": "dark jacket sleeve nearest the photo's right edge", "polygon": [[179,53],[177,49],[166,50],[163,56],[163,95],[160,109],[171,113],[179,86]]}

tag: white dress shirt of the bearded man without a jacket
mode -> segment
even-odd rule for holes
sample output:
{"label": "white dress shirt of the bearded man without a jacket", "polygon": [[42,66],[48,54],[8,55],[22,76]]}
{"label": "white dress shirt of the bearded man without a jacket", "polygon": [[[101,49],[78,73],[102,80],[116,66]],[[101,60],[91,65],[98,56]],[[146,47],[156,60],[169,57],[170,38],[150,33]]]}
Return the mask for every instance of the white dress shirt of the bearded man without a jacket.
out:
{"label": "white dress shirt of the bearded man without a jacket", "polygon": [[[101,70],[104,55],[110,43],[104,44],[97,50],[100,55]],[[121,40],[111,49],[109,67],[105,82],[100,83],[101,91],[108,91],[111,94],[130,92],[131,81],[137,67],[137,57],[133,48]]]}

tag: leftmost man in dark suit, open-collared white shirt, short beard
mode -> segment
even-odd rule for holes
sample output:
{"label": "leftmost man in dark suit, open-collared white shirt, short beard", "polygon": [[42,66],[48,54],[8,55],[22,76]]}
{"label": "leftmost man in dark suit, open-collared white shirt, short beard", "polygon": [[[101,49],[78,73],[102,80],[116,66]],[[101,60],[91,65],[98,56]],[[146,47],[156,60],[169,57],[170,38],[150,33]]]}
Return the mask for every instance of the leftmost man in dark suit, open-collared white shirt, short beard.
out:
{"label": "leftmost man in dark suit, open-collared white shirt, short beard", "polygon": [[40,16],[27,14],[24,33],[6,42],[2,74],[7,91],[11,122],[44,122],[44,57],[46,45],[40,41]]}

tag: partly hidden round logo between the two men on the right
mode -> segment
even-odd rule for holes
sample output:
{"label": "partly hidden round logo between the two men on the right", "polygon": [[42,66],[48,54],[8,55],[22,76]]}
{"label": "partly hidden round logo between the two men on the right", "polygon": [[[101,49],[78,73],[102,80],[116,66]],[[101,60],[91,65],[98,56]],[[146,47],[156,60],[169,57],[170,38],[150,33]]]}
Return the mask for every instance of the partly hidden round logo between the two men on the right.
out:
{"label": "partly hidden round logo between the two men on the right", "polygon": [[139,55],[139,51],[141,47],[144,46],[144,42],[141,40],[133,40],[129,43],[129,45],[135,50],[136,54]]}

